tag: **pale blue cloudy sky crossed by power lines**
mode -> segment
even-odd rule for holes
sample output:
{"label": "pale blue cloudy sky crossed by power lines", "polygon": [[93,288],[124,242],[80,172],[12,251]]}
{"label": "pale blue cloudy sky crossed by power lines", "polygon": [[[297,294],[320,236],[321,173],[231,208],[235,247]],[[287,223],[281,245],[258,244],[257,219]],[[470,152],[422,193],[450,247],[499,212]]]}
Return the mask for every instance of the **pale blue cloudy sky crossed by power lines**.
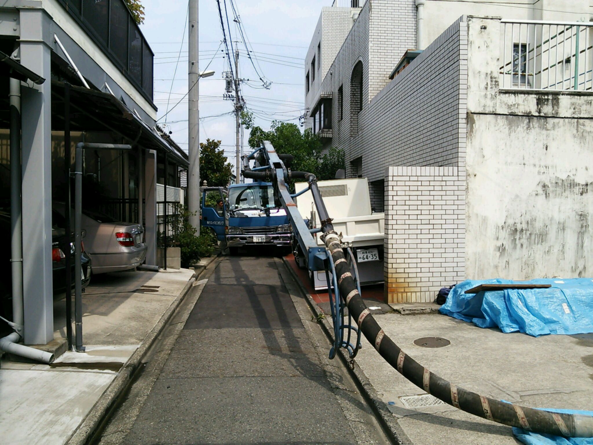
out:
{"label": "pale blue cloudy sky crossed by power lines", "polygon": [[[298,116],[304,113],[304,58],[321,8],[331,6],[332,0],[233,0],[251,43],[249,49],[253,49],[251,58],[264,80],[272,82],[270,89],[263,88],[247,57],[233,22],[231,0],[220,0],[225,25],[225,1],[232,40],[240,40],[239,77],[249,80],[242,85],[243,97],[247,108],[256,114],[256,125],[269,129],[274,119],[291,119],[289,122],[298,125]],[[158,107],[159,123],[162,125],[166,120],[166,129],[173,132],[173,140],[187,150],[187,98],[181,100],[187,93],[187,0],[143,0],[142,3],[145,7],[142,33],[155,53],[154,103]],[[230,40],[228,34],[227,40]],[[225,92],[222,73],[229,68],[221,42],[217,1],[199,0],[200,71],[206,68],[215,71],[213,77],[202,78],[199,84],[200,142],[206,138],[221,140],[225,155],[234,164],[235,117],[231,114],[232,101],[222,98]],[[228,44],[230,49],[231,43]],[[171,111],[161,119],[167,109]],[[245,151],[247,139],[246,130]]]}

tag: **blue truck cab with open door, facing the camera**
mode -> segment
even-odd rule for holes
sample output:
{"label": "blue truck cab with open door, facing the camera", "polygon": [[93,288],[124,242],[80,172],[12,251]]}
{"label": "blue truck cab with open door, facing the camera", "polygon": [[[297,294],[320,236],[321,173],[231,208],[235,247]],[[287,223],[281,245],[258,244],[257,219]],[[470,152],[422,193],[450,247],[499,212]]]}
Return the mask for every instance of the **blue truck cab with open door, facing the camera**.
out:
{"label": "blue truck cab with open door, facing the camera", "polygon": [[230,255],[244,246],[292,248],[290,221],[269,182],[233,184],[228,190],[204,187],[201,221],[227,242]]}

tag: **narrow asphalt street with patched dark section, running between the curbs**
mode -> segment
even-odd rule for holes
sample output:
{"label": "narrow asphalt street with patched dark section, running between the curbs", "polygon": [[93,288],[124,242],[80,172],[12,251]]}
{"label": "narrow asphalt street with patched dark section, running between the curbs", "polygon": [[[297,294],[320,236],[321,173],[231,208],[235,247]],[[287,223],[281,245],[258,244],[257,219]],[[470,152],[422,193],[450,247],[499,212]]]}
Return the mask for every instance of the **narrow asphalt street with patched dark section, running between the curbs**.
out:
{"label": "narrow asphalt street with patched dark section, running between the curbs", "polygon": [[282,260],[225,257],[196,284],[101,444],[389,443]]}

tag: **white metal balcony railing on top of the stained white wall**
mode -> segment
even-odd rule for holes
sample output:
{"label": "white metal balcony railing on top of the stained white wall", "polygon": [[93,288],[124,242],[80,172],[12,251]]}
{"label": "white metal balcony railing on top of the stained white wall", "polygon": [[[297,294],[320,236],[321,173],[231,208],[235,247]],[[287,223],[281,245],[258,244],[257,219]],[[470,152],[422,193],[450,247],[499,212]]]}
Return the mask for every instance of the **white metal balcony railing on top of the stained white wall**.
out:
{"label": "white metal balcony railing on top of the stained white wall", "polygon": [[593,24],[502,20],[500,87],[592,91]]}

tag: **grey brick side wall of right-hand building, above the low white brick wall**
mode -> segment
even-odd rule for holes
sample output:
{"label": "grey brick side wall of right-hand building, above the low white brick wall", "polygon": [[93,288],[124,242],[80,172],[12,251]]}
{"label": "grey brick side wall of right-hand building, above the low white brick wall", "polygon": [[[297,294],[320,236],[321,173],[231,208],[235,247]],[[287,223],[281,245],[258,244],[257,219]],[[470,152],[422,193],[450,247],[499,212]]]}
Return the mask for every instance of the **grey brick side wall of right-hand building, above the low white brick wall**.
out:
{"label": "grey brick side wall of right-hand building, above the low white brick wall", "polygon": [[[464,165],[465,22],[452,24],[393,81],[371,96],[375,86],[384,82],[377,73],[382,72],[386,79],[410,46],[410,39],[415,39],[416,27],[410,25],[409,7],[410,2],[404,0],[369,0],[330,66],[331,75],[321,85],[322,91],[334,93],[333,138],[325,148],[343,148],[346,164],[362,157],[362,174],[370,182],[382,179],[388,166]],[[380,46],[375,40],[380,39],[381,33],[389,32],[391,37],[383,39]],[[359,61],[363,65],[363,109],[353,114],[352,106],[356,106],[357,100],[352,93],[357,91],[351,88],[350,80]],[[342,119],[337,106],[340,86]],[[358,121],[356,125],[351,125],[353,120]]]}

